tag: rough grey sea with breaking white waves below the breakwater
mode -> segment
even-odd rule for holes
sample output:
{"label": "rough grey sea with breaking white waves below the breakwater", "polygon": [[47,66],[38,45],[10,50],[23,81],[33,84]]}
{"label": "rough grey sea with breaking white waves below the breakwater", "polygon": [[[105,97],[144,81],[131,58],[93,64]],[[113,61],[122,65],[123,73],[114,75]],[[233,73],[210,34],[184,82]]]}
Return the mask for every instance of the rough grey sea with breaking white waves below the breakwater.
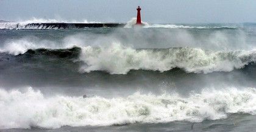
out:
{"label": "rough grey sea with breaking white waves below the breakwater", "polygon": [[256,24],[20,26],[0,24],[0,131],[256,129]]}

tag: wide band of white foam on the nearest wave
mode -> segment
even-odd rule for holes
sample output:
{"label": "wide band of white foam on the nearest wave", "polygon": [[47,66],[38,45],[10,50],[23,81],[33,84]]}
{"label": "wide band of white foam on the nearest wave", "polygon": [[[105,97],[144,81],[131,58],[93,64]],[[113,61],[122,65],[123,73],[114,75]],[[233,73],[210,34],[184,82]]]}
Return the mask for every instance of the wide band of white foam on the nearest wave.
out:
{"label": "wide band of white foam on the nearest wave", "polygon": [[105,126],[175,120],[201,122],[222,119],[229,113],[255,114],[255,106],[255,88],[205,89],[202,93],[191,93],[189,97],[134,93],[113,99],[44,97],[32,88],[24,93],[0,89],[0,113],[4,115],[0,118],[0,128]]}

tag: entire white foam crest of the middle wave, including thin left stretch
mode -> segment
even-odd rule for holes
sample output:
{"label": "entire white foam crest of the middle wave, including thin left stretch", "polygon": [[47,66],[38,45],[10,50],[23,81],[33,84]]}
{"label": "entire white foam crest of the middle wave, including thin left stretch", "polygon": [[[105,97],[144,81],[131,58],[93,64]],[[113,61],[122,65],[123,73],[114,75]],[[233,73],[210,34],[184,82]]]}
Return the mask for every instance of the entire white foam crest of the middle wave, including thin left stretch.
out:
{"label": "entire white foam crest of the middle wave, including thin left stretch", "polygon": [[[96,41],[97,42],[97,41]],[[37,48],[82,48],[80,61],[85,65],[81,72],[107,71],[110,74],[126,74],[130,70],[168,71],[182,68],[188,73],[211,73],[232,71],[256,61],[256,50],[212,51],[201,48],[160,48],[135,49],[119,42],[91,46],[80,39],[66,38],[63,42],[23,38],[9,40],[0,47],[0,52],[23,54],[28,49]]]}

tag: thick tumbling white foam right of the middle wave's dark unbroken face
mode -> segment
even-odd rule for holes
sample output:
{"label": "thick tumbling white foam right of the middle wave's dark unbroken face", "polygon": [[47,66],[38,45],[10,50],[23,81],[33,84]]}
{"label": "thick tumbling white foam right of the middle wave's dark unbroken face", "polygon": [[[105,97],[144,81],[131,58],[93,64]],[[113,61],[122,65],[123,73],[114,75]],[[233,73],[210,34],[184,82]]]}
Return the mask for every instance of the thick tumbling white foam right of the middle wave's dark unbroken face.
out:
{"label": "thick tumbling white foam right of the middle wave's dark unbroken face", "polygon": [[80,60],[87,65],[82,72],[107,71],[126,74],[130,70],[168,71],[182,68],[187,72],[232,71],[256,61],[256,51],[206,51],[201,48],[166,48],[136,50],[120,44],[107,47],[83,47]]}

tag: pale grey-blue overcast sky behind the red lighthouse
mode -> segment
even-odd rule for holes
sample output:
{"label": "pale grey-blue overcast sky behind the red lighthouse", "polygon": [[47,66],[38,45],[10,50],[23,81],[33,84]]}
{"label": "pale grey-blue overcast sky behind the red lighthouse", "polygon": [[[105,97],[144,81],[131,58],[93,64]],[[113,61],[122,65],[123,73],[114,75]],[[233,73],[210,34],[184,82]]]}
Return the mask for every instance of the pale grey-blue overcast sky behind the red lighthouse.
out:
{"label": "pale grey-blue overcast sky behind the red lighthouse", "polygon": [[149,23],[256,22],[255,0],[0,0],[0,19]]}

